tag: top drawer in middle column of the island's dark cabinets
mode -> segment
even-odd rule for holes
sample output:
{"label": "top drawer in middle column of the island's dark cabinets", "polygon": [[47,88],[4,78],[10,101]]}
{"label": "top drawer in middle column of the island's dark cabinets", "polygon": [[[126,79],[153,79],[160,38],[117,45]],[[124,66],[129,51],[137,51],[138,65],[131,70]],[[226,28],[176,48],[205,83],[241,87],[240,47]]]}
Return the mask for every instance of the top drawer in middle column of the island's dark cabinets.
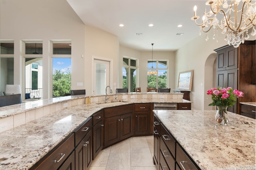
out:
{"label": "top drawer in middle column of the island's dark cabinets", "polygon": [[175,158],[176,143],[175,143],[174,139],[172,138],[172,136],[170,135],[170,133],[168,133],[168,131],[165,129],[165,127],[162,124],[160,126],[160,134],[161,134],[161,138],[163,139],[164,143],[166,144],[166,146],[168,147],[168,149],[170,150],[170,152],[172,153],[172,155]]}

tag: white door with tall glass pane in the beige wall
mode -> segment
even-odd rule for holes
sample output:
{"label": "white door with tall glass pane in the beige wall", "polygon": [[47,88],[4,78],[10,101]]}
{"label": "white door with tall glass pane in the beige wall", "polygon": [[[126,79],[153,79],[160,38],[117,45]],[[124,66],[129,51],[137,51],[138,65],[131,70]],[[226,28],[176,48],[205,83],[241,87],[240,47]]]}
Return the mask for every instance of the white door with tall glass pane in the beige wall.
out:
{"label": "white door with tall glass pane in the beige wall", "polygon": [[110,85],[110,62],[94,59],[94,95],[104,95],[106,86]]}

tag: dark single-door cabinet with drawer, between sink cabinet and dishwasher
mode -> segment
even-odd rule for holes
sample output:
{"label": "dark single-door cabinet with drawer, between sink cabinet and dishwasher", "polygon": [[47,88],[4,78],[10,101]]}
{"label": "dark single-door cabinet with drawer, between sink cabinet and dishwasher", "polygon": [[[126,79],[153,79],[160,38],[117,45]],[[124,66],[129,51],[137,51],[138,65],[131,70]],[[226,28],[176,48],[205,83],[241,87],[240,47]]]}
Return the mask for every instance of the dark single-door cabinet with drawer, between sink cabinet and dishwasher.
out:
{"label": "dark single-door cabinet with drawer, between sink cabinet and dishwasher", "polygon": [[152,135],[153,113],[152,104],[134,104],[134,134]]}

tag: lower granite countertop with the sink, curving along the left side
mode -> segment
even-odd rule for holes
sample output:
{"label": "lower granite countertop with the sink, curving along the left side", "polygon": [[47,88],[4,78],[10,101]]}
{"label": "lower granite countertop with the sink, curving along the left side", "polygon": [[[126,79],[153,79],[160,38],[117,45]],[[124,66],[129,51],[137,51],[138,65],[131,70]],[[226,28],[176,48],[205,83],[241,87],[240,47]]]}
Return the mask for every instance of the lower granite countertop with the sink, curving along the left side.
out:
{"label": "lower granite countertop with the sink, curving along the left side", "polygon": [[[65,99],[67,100],[68,98],[65,97]],[[28,104],[42,106],[52,103],[52,100],[38,101],[38,103],[34,101],[35,103],[28,102]],[[132,99],[123,103],[113,102],[108,106],[91,103],[67,107],[66,109],[50,113],[24,125],[1,132],[0,170],[28,170],[88,117],[105,107],[152,102],[191,103],[188,100],[182,99]],[[10,107],[19,111],[25,109],[26,103],[19,104],[19,106],[16,109],[13,106]]]}

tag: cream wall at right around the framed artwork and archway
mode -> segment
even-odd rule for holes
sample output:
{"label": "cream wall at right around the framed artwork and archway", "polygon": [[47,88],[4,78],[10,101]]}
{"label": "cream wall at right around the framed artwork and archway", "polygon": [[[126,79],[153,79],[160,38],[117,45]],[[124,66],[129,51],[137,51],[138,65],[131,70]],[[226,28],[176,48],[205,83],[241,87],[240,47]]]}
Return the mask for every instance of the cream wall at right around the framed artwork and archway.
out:
{"label": "cream wall at right around the framed artwork and archway", "polygon": [[[202,33],[201,36],[198,36],[176,51],[175,84],[178,84],[179,72],[194,70],[192,91],[190,92],[190,100],[193,102],[192,109],[204,110],[212,108],[208,107],[204,101],[208,100],[208,104],[211,103],[211,99],[209,99],[205,94],[207,90],[209,90],[210,86],[216,87],[216,85],[213,86],[213,81],[209,82],[205,80],[205,78],[212,78],[212,80],[216,79],[216,77],[212,75],[213,71],[210,71],[212,68],[209,68],[213,66],[214,55],[217,54],[214,49],[228,44],[227,41],[223,39],[224,36],[220,31],[218,31],[218,43],[216,40],[212,39],[212,35],[213,30],[208,32],[209,40],[205,41],[206,34]],[[248,40],[255,40],[255,36],[250,36],[250,39]],[[211,58],[212,64],[210,62],[206,63],[209,57]]]}

